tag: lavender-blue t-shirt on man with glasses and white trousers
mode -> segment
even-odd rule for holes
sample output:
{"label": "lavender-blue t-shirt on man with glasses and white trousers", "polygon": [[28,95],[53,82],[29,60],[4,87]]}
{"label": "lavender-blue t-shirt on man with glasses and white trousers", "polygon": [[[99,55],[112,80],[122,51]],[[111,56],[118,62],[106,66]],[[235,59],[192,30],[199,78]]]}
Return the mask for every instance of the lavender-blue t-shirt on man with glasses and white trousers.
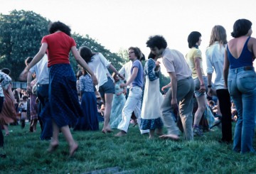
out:
{"label": "lavender-blue t-shirt on man with glasses and white trousers", "polygon": [[132,62],[132,69],[131,69],[131,75],[134,67],[138,68],[138,73],[137,76],[135,77],[134,81],[132,82],[132,87],[139,86],[143,87],[143,67],[142,67],[142,62],[139,60],[135,60]]}

